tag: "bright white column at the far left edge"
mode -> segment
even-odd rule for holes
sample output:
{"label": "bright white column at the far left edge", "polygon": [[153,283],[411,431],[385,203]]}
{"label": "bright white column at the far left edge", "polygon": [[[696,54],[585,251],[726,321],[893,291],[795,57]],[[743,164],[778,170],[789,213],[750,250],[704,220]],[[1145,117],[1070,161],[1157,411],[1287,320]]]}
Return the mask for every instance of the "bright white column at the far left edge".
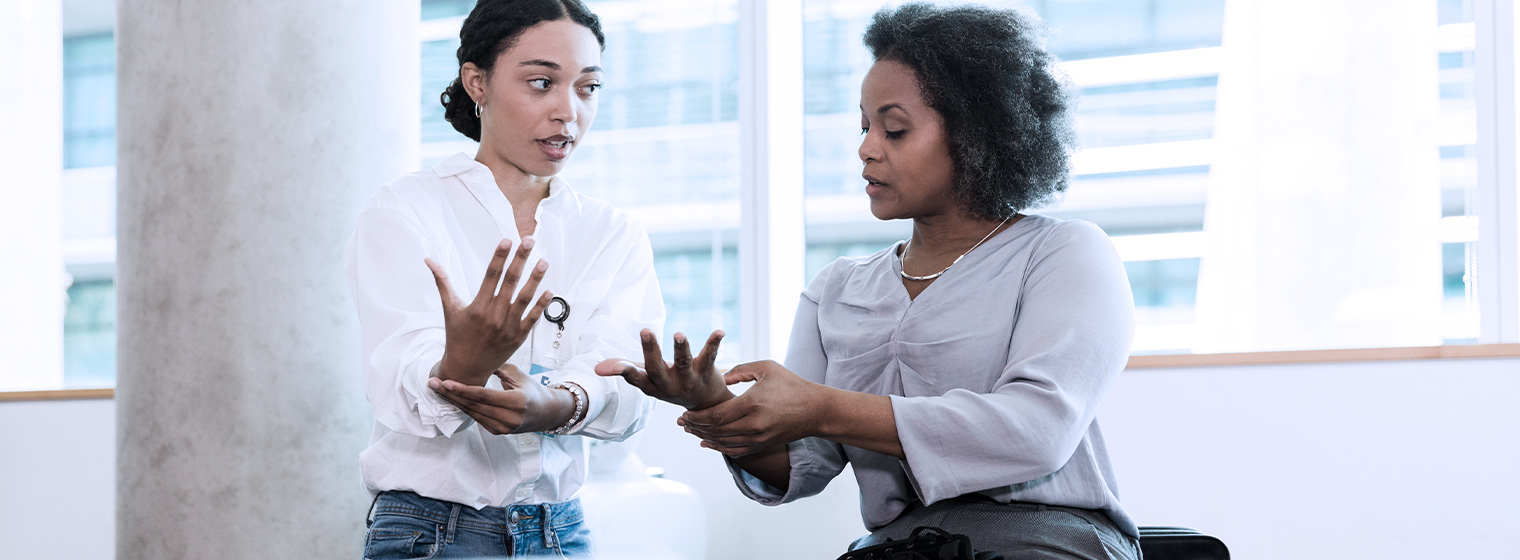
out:
{"label": "bright white column at the far left edge", "polygon": [[0,391],[64,382],[59,245],[64,32],[59,0],[17,0],[0,15]]}

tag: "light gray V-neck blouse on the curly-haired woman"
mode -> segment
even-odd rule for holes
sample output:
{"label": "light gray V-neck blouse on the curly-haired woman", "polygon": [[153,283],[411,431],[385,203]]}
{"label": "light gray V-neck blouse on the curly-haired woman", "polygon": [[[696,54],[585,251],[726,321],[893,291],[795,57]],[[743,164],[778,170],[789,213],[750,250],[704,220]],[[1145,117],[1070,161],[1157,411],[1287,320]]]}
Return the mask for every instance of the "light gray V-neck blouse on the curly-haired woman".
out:
{"label": "light gray V-neck blouse on the curly-haired woman", "polygon": [[739,488],[760,504],[784,504],[822,492],[848,463],[872,531],[914,502],[976,492],[1102,510],[1137,536],[1096,420],[1134,336],[1129,282],[1104,231],[1026,216],[915,300],[897,250],[834,260],[813,278],[786,367],[828,387],[891,396],[907,460],[806,438],[787,446],[786,492],[730,461]]}

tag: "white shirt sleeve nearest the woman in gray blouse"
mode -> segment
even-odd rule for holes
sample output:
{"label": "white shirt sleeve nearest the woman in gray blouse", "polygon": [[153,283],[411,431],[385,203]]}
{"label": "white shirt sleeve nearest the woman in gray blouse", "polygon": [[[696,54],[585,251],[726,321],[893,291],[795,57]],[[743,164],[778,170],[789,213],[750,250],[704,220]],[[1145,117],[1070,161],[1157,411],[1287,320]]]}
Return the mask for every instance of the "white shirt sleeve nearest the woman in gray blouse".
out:
{"label": "white shirt sleeve nearest the woman in gray blouse", "polygon": [[606,280],[611,288],[581,329],[576,355],[553,377],[558,382],[575,382],[587,393],[585,420],[572,426],[570,434],[625,440],[643,428],[654,409],[654,399],[623,377],[602,377],[593,368],[608,358],[643,356],[638,332],[649,329],[658,339],[666,310],[655,277],[654,251],[644,230],[628,224],[611,239],[614,242],[591,265],[588,278],[582,280]]}

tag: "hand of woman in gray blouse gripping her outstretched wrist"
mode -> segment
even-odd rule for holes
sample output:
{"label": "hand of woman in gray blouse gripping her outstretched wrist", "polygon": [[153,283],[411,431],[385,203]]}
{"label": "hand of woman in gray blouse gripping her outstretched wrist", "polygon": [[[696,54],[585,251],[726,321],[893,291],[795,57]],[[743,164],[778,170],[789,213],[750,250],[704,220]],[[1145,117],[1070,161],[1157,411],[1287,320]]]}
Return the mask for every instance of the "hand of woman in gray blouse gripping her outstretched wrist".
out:
{"label": "hand of woman in gray blouse gripping her outstretched wrist", "polygon": [[720,405],[682,414],[676,423],[702,438],[702,447],[743,457],[819,435],[836,390],[798,377],[781,364],[765,361],[728,370],[728,385],[752,380],[745,394]]}

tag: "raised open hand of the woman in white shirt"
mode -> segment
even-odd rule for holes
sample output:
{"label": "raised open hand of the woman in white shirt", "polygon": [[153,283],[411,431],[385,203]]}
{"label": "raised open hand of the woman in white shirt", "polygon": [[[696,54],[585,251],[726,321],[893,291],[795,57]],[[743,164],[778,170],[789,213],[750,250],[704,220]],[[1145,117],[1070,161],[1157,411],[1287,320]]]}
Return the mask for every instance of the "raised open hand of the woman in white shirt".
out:
{"label": "raised open hand of the woman in white shirt", "polygon": [[[538,323],[538,317],[544,313],[544,307],[553,298],[553,294],[544,291],[538,297],[538,303],[527,309],[529,303],[534,303],[538,282],[549,269],[549,263],[543,260],[534,265],[523,289],[517,289],[518,280],[523,278],[523,266],[527,263],[527,253],[532,250],[534,237],[524,237],[512,263],[506,265],[506,257],[512,253],[512,242],[502,239],[502,243],[496,247],[496,254],[491,256],[491,263],[485,268],[480,292],[470,304],[454,295],[444,268],[432,259],[424,259],[427,268],[433,271],[438,295],[444,300],[444,359],[438,362],[435,370],[439,379],[485,385],[496,368],[506,364],[527,339],[534,323]],[[502,278],[503,265],[506,265],[506,280],[502,282],[502,291],[497,292],[496,285]]]}

